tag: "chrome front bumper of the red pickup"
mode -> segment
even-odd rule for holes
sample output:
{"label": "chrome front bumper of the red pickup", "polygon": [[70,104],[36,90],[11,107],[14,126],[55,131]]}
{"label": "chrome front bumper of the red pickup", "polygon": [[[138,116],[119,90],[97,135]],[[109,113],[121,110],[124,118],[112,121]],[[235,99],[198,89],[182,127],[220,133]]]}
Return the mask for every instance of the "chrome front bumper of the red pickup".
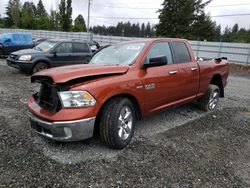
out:
{"label": "chrome front bumper of the red pickup", "polygon": [[48,122],[33,114],[31,128],[38,134],[56,141],[79,141],[91,138],[94,132],[95,117],[75,121]]}

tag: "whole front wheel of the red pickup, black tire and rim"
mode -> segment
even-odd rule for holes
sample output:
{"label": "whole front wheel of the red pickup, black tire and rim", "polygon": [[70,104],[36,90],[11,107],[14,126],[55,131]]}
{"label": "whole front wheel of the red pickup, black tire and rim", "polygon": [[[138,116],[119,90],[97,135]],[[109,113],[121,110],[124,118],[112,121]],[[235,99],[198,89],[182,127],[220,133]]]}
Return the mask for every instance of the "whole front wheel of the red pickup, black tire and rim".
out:
{"label": "whole front wheel of the red pickup, black tire and rim", "polygon": [[102,110],[99,124],[101,140],[110,148],[123,149],[132,140],[135,109],[127,98],[115,98]]}

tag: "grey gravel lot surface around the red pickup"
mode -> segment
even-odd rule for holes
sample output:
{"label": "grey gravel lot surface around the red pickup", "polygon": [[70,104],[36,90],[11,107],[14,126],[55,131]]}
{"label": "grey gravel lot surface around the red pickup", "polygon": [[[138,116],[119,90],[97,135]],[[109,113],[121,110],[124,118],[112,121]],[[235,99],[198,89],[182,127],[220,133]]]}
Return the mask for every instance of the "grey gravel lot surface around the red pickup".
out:
{"label": "grey gravel lot surface around the red pickup", "polygon": [[218,110],[194,104],[137,123],[132,144],[110,150],[32,133],[30,77],[0,60],[0,187],[250,187],[250,74],[231,74]]}

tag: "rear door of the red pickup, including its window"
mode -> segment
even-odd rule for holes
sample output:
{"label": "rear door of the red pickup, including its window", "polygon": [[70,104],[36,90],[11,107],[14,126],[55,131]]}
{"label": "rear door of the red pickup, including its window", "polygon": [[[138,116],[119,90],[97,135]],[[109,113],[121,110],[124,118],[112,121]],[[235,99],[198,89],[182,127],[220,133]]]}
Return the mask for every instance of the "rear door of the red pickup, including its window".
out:
{"label": "rear door of the red pickup, including its window", "polygon": [[[199,87],[199,67],[192,58],[188,44],[184,41],[171,42],[179,75],[179,99],[194,98]],[[192,60],[193,59],[193,60]]]}

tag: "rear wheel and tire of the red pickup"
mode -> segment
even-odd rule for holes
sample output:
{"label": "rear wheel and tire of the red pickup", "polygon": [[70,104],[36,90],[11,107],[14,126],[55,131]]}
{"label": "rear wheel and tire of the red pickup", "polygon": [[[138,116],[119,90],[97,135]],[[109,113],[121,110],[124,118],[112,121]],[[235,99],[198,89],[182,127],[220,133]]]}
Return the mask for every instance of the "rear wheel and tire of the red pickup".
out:
{"label": "rear wheel and tire of the red pickup", "polygon": [[220,98],[220,89],[216,85],[210,84],[206,94],[198,100],[199,107],[204,111],[213,111]]}

